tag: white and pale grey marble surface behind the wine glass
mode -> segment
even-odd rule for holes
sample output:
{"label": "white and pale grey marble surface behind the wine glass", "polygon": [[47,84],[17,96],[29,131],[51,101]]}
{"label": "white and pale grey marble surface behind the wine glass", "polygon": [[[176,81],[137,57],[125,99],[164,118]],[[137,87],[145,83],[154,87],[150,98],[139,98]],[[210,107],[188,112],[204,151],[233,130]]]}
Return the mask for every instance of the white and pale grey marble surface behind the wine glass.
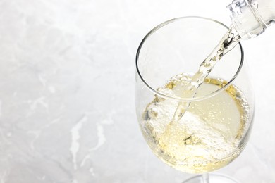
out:
{"label": "white and pale grey marble surface behind the wine glass", "polygon": [[[230,24],[231,1],[1,0],[0,182],[162,183],[191,175],[161,163],[135,116],[135,52],[165,20]],[[243,42],[256,114],[241,156],[216,171],[275,182],[275,26]]]}

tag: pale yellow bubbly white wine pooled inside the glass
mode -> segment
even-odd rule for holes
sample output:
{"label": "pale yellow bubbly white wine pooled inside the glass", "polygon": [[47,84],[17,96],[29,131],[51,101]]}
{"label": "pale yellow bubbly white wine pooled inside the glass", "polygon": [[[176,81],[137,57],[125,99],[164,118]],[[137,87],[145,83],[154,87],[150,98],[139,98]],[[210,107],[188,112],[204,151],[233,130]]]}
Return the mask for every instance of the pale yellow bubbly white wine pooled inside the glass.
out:
{"label": "pale yellow bubbly white wine pooled inside the glass", "polygon": [[[172,77],[159,92],[184,95],[185,74]],[[226,81],[206,78],[197,95],[224,87]],[[173,168],[183,172],[209,172],[230,163],[245,146],[250,108],[234,85],[215,96],[193,101],[177,122],[171,122],[178,101],[155,96],[142,115],[142,133],[152,151]]]}

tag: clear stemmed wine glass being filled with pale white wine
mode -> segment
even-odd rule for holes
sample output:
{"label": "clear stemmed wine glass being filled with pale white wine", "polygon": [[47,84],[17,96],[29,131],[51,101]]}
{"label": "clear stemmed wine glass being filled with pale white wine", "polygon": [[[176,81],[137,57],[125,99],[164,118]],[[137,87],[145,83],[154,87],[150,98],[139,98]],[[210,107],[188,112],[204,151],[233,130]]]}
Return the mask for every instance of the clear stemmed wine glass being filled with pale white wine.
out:
{"label": "clear stemmed wine glass being filled with pale white wine", "polygon": [[[236,182],[208,172],[237,158],[250,136],[254,94],[241,44],[216,63],[195,96],[181,95],[227,31],[209,18],[176,18],[151,30],[138,48],[135,104],[140,129],[164,163],[200,174],[188,183]],[[175,121],[179,103],[188,107]]]}

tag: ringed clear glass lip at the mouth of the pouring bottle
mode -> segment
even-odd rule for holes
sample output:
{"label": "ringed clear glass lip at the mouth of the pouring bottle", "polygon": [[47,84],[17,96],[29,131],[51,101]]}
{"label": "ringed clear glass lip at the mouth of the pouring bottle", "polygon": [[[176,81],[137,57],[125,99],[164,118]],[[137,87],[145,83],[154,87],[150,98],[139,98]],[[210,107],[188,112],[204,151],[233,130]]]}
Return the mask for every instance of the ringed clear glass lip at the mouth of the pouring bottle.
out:
{"label": "ringed clear glass lip at the mouth of the pouring bottle", "polygon": [[230,11],[233,27],[242,39],[257,37],[267,28],[257,7],[256,1],[248,0],[234,0],[226,7]]}

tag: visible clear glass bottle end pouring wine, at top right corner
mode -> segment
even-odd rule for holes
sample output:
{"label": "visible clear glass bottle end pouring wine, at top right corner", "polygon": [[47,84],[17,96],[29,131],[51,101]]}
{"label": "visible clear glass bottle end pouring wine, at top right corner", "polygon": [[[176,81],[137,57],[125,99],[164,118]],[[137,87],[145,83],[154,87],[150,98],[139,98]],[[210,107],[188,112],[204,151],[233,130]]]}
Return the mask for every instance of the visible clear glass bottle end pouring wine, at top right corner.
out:
{"label": "visible clear glass bottle end pouring wine, at top right corner", "polygon": [[275,0],[234,0],[226,8],[242,39],[257,37],[275,23]]}

